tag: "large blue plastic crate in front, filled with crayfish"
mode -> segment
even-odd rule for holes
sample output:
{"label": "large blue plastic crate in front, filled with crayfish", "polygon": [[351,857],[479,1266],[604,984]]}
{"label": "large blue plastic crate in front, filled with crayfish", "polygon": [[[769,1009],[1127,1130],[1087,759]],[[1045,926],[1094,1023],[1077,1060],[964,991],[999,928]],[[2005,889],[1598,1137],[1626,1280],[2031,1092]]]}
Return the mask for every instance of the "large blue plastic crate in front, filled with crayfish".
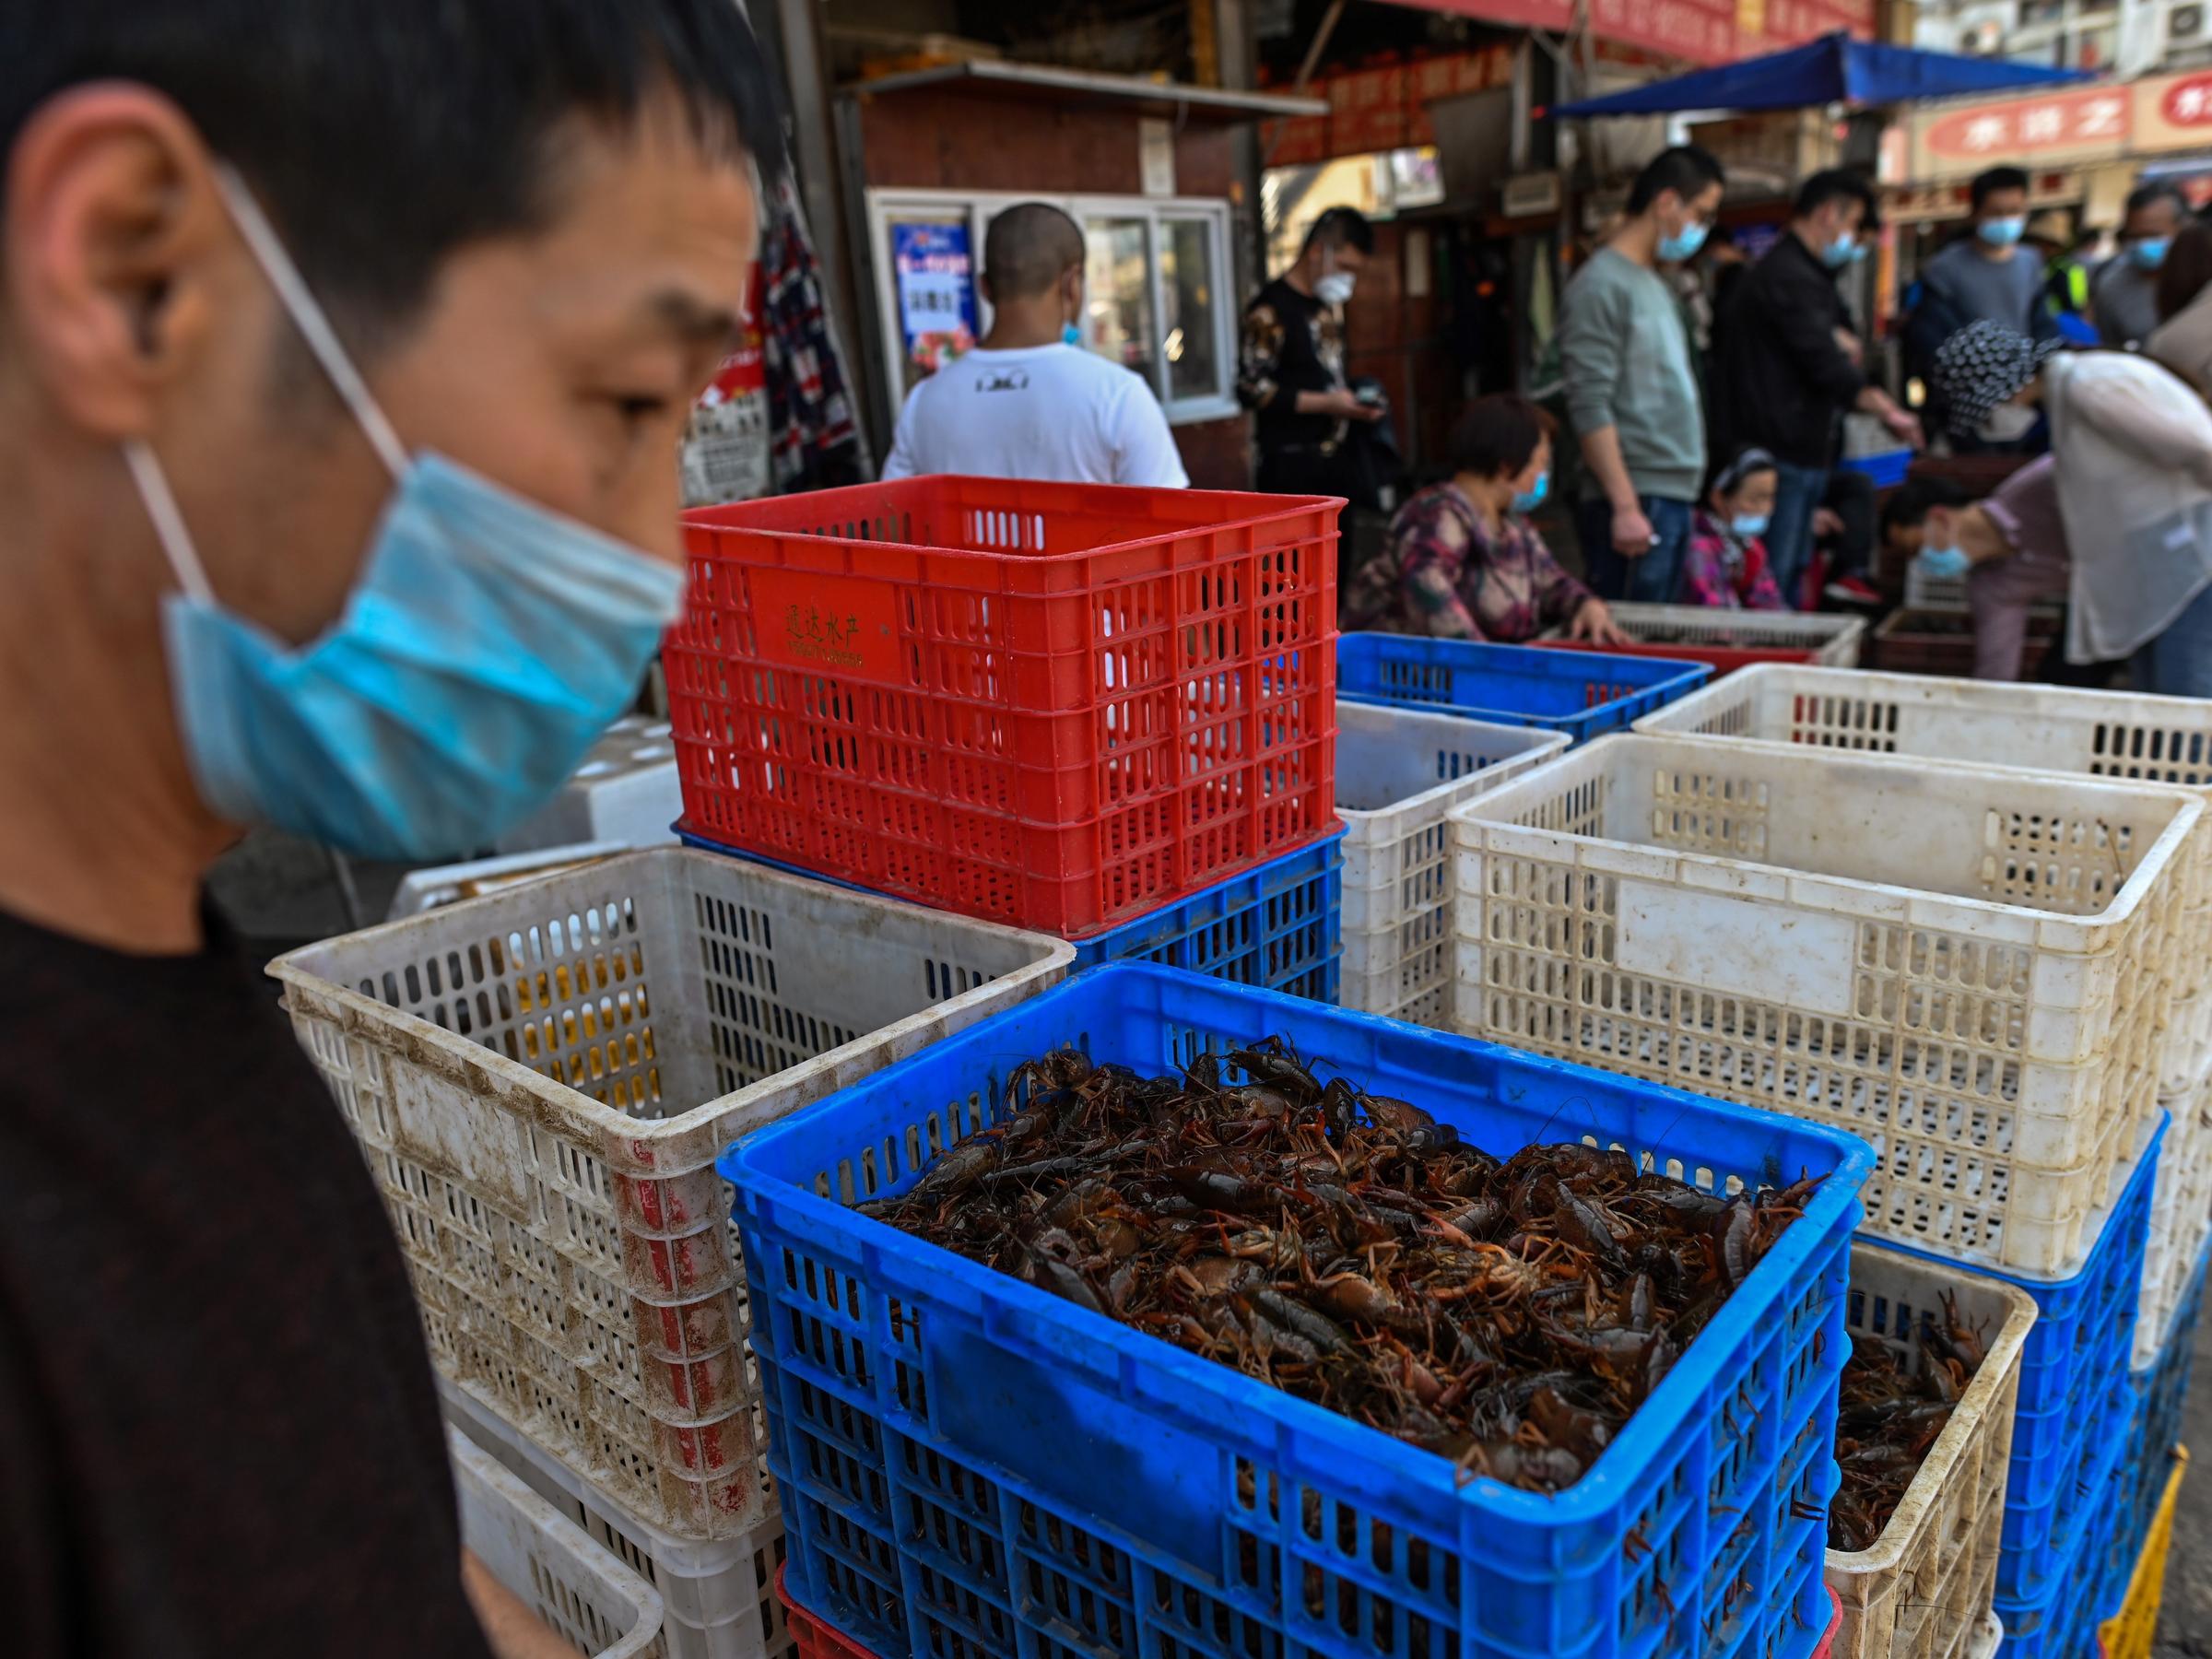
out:
{"label": "large blue plastic crate in front, filled with crayfish", "polygon": [[[845,1208],[998,1121],[1026,1057],[1079,1044],[1161,1073],[1270,1033],[1498,1155],[1582,1139],[1708,1186],[1829,1179],[1555,1498],[1458,1486],[1442,1458]],[[1093,969],[721,1161],[792,1588],[883,1659],[1809,1655],[1832,1613],[1869,1168],[1863,1141],[1745,1106],[1172,969]]]}

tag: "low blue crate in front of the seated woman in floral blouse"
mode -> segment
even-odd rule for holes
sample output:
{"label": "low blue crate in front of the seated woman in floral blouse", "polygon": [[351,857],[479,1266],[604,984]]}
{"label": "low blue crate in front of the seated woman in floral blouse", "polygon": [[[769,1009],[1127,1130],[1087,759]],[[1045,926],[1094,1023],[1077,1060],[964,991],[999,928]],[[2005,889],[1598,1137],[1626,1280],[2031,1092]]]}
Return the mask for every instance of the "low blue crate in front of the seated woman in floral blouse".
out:
{"label": "low blue crate in front of the seated woman in floral blouse", "polygon": [[1444,708],[1506,726],[1542,726],[1577,743],[1632,721],[1712,679],[1712,666],[1595,650],[1489,646],[1347,633],[1336,641],[1336,695],[1356,703]]}

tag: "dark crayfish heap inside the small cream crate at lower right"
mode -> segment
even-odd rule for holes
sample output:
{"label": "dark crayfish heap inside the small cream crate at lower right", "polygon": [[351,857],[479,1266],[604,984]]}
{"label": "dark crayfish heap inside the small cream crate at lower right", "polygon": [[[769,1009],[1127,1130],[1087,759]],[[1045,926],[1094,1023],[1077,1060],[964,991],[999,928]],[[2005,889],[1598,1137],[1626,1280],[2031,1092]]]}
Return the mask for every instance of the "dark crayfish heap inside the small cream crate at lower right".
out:
{"label": "dark crayfish heap inside the small cream crate at lower right", "polygon": [[1836,1467],[1843,1486],[1827,1511],[1827,1546],[1869,1551],[1913,1484],[1929,1447],[1951,1422],[1966,1383],[1982,1369],[1982,1332],[1942,1298],[1920,1316],[1916,1358],[1900,1363],[1880,1336],[1854,1334],[1836,1416]]}

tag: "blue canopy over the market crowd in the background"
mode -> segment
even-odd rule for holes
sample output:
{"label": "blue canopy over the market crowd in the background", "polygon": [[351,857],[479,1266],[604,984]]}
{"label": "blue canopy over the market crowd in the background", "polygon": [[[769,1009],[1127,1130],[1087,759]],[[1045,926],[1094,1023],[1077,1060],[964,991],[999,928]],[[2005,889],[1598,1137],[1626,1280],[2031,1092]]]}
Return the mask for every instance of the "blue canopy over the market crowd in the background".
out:
{"label": "blue canopy over the market crowd in the background", "polygon": [[1694,69],[1688,75],[1630,86],[1608,97],[1557,104],[1553,115],[1668,115],[1686,108],[1818,108],[1820,104],[1909,104],[1920,97],[2004,93],[2015,86],[2055,86],[2095,80],[2079,69],[2037,69],[1995,58],[1958,58],[1947,51],[1880,46],[1836,31],[1790,51],[1745,58],[1741,64]]}

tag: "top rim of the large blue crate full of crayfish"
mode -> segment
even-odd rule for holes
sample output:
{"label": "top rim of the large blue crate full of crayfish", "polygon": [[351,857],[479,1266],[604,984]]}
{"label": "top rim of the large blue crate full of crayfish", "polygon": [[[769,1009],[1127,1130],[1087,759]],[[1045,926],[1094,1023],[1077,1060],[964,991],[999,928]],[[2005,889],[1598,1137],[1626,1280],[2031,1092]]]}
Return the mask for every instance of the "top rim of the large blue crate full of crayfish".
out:
{"label": "top rim of the large blue crate full of crayfish", "polygon": [[[1564,1493],[1526,1493],[1504,1482],[1480,1475],[1464,1486],[1453,1484],[1453,1464],[1442,1455],[1431,1451],[1420,1451],[1391,1436],[1369,1429],[1363,1422],[1345,1418],[1325,1407],[1298,1400],[1283,1389],[1274,1389],[1265,1383],[1254,1383],[1252,1378],[1232,1371],[1225,1365],[1203,1360],[1194,1354],[1166,1343],[1146,1332],[1133,1329],[1104,1314],[1091,1314],[1073,1303],[1053,1296],[1048,1292],[1024,1285],[1009,1274],[993,1272],[964,1256],[929,1245],[914,1234],[898,1232],[896,1228],[876,1221],[872,1217],[858,1214],[849,1206],[834,1203],[830,1199],[816,1197],[805,1188],[799,1188],[776,1175],[768,1175],[752,1166],[752,1159],[761,1152],[774,1148],[779,1141],[805,1133],[807,1119],[827,1106],[821,1102],[812,1108],[801,1108],[790,1117],[768,1124],[743,1141],[737,1141],[723,1150],[717,1159],[721,1175],[737,1188],[737,1210],[748,1219],[759,1214],[768,1203],[781,1206],[805,1221],[827,1223],[836,1230],[852,1230],[863,1270],[876,1274],[885,1261],[885,1245],[896,1245],[900,1252],[927,1252],[931,1272],[945,1274],[951,1281],[967,1283],[980,1290],[989,1290],[993,1296],[1011,1298],[1015,1307],[1026,1310],[1031,1316],[1042,1318],[1046,1325],[1057,1325],[1077,1343],[1093,1343],[1113,1349],[1121,1365],[1128,1363],[1126,1349],[1130,1345],[1144,1345],[1141,1356],[1148,1367],[1164,1371],[1170,1380],[1188,1385],[1188,1400],[1210,1402],[1219,1407],[1219,1413],[1194,1409],[1190,1402],[1170,1405],[1168,1400],[1152,1398],[1148,1409],[1159,1411],[1170,1420],[1179,1420],[1183,1427],[1199,1429],[1214,1440],[1243,1438],[1252,1453],[1272,1460],[1276,1467],[1294,1469],[1296,1458],[1285,1455],[1290,1442],[1298,1438],[1314,1440],[1340,1440],[1343,1436],[1356,1436],[1358,1449],[1367,1455],[1369,1464],[1380,1464],[1394,1475],[1429,1489],[1438,1500],[1453,1504],[1455,1513],[1467,1520],[1469,1506],[1480,1506],[1486,1513],[1502,1520],[1517,1520],[1531,1526],[1571,1528],[1599,1520],[1617,1509],[1617,1504],[1632,1491],[1632,1482],[1646,1469],[1646,1464],[1663,1451],[1661,1429],[1652,1427],[1661,1418],[1672,1418],[1681,1422],[1694,1416],[1688,1402],[1677,1402],[1674,1394],[1686,1394],[1692,1387],[1703,1387],[1690,1380],[1688,1358],[1699,1352],[1701,1343],[1708,1343],[1708,1352],[1728,1347],[1736,1340],[1756,1340],[1756,1332],[1750,1327],[1754,1303],[1778,1301],[1778,1290],[1794,1272],[1809,1265],[1812,1252],[1818,1248],[1823,1234],[1858,1208],[1860,1188],[1867,1175],[1874,1170],[1874,1150],[1860,1141],[1856,1135],[1845,1135],[1843,1130],[1827,1128],[1825,1124],[1812,1124],[1805,1119],[1794,1119],[1781,1113],[1763,1113],[1750,1106],[1736,1106],[1732,1102],[1712,1099],[1705,1095],[1692,1095],[1679,1088],[1666,1088],[1659,1084],[1644,1084],[1641,1079],[1619,1077],[1613,1073],[1597,1073],[1586,1066],[1575,1066],[1562,1060],[1548,1060],[1544,1055],[1528,1055],[1517,1048],[1504,1048],[1502,1044],[1482,1042],[1475,1037],[1451,1037],[1425,1026],[1409,1026],[1396,1020],[1385,1020],[1371,1013],[1358,1013],[1352,1009],[1336,1009],[1316,1002],[1303,1002],[1287,998],[1283,993],[1263,991],[1256,987],[1230,984],[1223,980],[1206,978],[1199,973],[1188,973],[1183,969],[1157,967],[1150,962],[1108,962],[1082,973],[1071,975],[1062,984],[1031,998],[1020,1006],[1024,1018],[1048,1015],[1055,1002],[1068,1002],[1077,995],[1095,993],[1099,989],[1110,989],[1113,980],[1121,978],[1157,978],[1172,987],[1186,987],[1201,993],[1223,993],[1234,1000],[1254,998],[1270,1002],[1285,1002],[1287,1011],[1312,1018],[1325,1018],[1327,1022],[1343,1022],[1358,1026],[1374,1026],[1387,1031],[1394,1042],[1411,1042],[1416,1046],[1436,1048],[1440,1053],[1460,1053],[1469,1048],[1495,1053],[1511,1060],[1517,1066],[1526,1066],[1535,1073],[1553,1073],[1562,1082],[1575,1079],[1599,1079],[1608,1088],[1632,1086],[1637,1093],[1648,1093],[1659,1099],[1681,1102],[1683,1108],[1703,1108],[1708,1113],[1719,1113],[1734,1119],[1774,1119],[1787,1124],[1792,1135],[1803,1135],[1805,1139],[1825,1141],[1836,1150],[1836,1168],[1820,1181],[1814,1190],[1812,1203],[1805,1212],[1781,1234],[1781,1239],[1767,1250],[1767,1254],[1752,1270],[1752,1276],[1736,1287],[1736,1292],[1721,1303],[1721,1312],[1708,1321],[1705,1329],[1681,1352],[1674,1360],[1674,1369],[1659,1383],[1659,1389],[1646,1398],[1644,1407],[1621,1427],[1621,1433],[1606,1447],[1606,1451],[1584,1471],[1582,1480],[1568,1486]],[[947,1042],[980,1042],[989,1035],[993,1022],[982,1022],[971,1026],[960,1037]],[[894,1088],[902,1082],[907,1073],[918,1073],[931,1062],[938,1048],[909,1055],[907,1060],[885,1066],[874,1073],[867,1082],[869,1086]],[[834,1099],[834,1095],[830,1097]],[[889,1194],[889,1188],[885,1190]],[[741,1221],[745,1228],[748,1221]],[[942,1259],[942,1265],[938,1263]],[[1759,1294],[1745,1294],[1754,1290]],[[1104,1343],[1102,1343],[1104,1338]],[[1210,1396],[1210,1400],[1208,1400]],[[1668,1411],[1666,1407],[1679,1409]],[[1659,1407],[1657,1411],[1652,1407]],[[1267,1440],[1250,1436],[1241,1429],[1241,1422],[1267,1422],[1274,1433]]]}

